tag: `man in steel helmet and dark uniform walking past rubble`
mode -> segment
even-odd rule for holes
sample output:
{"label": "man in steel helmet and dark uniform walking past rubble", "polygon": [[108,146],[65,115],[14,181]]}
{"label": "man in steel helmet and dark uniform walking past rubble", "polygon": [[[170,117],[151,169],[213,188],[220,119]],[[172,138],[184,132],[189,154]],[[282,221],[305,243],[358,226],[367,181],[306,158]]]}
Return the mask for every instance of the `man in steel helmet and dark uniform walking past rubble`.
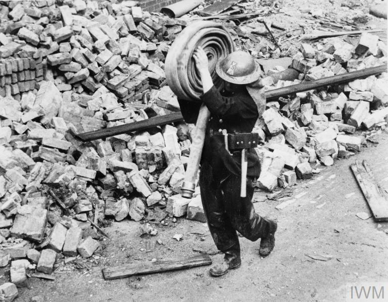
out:
{"label": "man in steel helmet and dark uniform walking past rubble", "polygon": [[[275,246],[277,223],[259,216],[251,202],[255,179],[260,175],[260,162],[251,148],[257,145],[251,131],[258,112],[245,85],[258,80],[260,68],[248,53],[230,53],[216,66],[218,76],[225,81],[220,93],[213,84],[204,49],[198,47],[193,58],[202,81],[202,101],[211,113],[201,159],[200,188],[209,230],[217,248],[225,254],[224,261],[210,269],[210,274],[217,277],[241,265],[236,231],[252,241],[261,238],[259,254],[266,257]],[[179,100],[179,105],[185,121],[196,123],[201,103]]]}

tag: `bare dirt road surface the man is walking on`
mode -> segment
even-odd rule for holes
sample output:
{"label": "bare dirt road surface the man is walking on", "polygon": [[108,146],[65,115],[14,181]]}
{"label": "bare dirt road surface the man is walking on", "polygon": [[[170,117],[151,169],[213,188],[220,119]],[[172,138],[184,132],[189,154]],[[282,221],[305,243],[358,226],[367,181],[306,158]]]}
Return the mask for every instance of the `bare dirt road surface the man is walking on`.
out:
{"label": "bare dirt road surface the man is walking on", "polygon": [[[347,283],[388,281],[388,223],[361,220],[356,213],[370,213],[349,165],[367,160],[380,184],[388,189],[388,134],[379,144],[362,148],[349,159],[338,160],[312,180],[299,182],[294,200],[283,210],[283,201],[256,202],[255,209],[279,222],[276,247],[268,258],[258,256],[260,241],[241,238],[242,266],[220,278],[208,267],[163,274],[104,281],[101,269],[137,261],[209,253],[217,261],[213,240],[205,223],[178,219],[160,226],[152,238],[139,236],[139,223],[125,221],[106,228],[104,253],[90,270],[53,274],[55,281],[30,278],[30,289],[20,289],[16,301],[42,295],[52,302],[128,301],[343,301]],[[256,194],[256,200],[262,195]],[[174,234],[183,234],[179,242]],[[164,245],[155,244],[160,239]],[[155,246],[153,246],[155,244]],[[152,251],[147,252],[151,246]],[[306,254],[331,255],[328,261]],[[330,257],[329,257],[330,258]]]}

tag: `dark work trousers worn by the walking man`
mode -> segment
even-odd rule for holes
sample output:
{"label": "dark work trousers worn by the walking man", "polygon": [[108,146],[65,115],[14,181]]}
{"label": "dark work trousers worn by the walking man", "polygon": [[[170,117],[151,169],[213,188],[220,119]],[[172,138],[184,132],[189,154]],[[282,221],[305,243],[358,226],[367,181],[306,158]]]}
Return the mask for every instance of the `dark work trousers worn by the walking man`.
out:
{"label": "dark work trousers worn by the walking man", "polygon": [[214,179],[215,172],[209,163],[201,164],[201,198],[209,230],[218,250],[239,255],[240,245],[236,231],[255,241],[268,234],[269,224],[253,208],[252,177],[247,177],[246,197],[242,198],[241,176],[230,173],[226,179],[217,182]]}

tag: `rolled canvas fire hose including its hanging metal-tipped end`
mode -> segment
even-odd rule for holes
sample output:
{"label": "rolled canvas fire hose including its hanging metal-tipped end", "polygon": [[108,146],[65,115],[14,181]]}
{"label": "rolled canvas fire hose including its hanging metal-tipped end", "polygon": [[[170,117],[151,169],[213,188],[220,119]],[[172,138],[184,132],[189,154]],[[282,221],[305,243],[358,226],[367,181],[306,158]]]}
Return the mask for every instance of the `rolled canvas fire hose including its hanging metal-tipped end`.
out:
{"label": "rolled canvas fire hose including its hanging metal-tipped end", "polygon": [[[209,71],[217,88],[220,88],[223,81],[215,72],[216,63],[235,49],[233,39],[218,23],[197,21],[182,30],[171,45],[165,61],[167,84],[179,99],[201,101],[203,94],[201,78],[192,58],[198,46],[202,46],[208,55]],[[182,185],[182,196],[185,198],[191,198],[196,188],[209,117],[209,109],[202,105],[192,137],[190,156]]]}

